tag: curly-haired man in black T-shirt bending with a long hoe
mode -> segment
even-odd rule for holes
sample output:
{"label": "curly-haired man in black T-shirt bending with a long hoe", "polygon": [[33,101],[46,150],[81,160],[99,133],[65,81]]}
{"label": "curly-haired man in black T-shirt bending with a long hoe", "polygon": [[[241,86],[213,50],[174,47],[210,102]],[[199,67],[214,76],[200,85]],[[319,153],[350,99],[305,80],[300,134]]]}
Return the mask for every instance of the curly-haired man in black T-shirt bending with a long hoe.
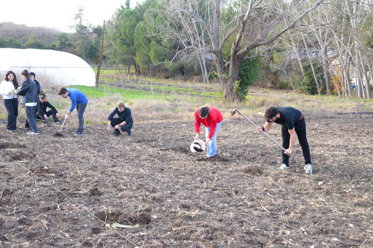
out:
{"label": "curly-haired man in black T-shirt bending with a long hoe", "polygon": [[264,118],[267,119],[266,125],[258,127],[258,132],[267,132],[272,122],[282,125],[282,146],[286,150],[282,151],[282,165],[278,169],[287,170],[289,168],[289,155],[293,151],[295,133],[297,133],[305,160],[304,170],[306,173],[312,174],[310,147],[307,142],[305,120],[302,113],[293,107],[269,107],[264,114]]}

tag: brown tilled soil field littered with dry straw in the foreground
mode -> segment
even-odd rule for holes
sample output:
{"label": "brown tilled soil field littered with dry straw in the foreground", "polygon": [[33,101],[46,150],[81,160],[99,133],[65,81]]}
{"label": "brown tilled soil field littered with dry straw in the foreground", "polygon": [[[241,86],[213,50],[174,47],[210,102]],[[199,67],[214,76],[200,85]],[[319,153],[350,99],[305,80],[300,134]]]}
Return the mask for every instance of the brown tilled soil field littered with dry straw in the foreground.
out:
{"label": "brown tilled soil field littered with dry straw in the foreground", "polygon": [[212,158],[193,122],[1,131],[0,247],[373,247],[372,120],[306,117],[312,175],[236,116]]}

